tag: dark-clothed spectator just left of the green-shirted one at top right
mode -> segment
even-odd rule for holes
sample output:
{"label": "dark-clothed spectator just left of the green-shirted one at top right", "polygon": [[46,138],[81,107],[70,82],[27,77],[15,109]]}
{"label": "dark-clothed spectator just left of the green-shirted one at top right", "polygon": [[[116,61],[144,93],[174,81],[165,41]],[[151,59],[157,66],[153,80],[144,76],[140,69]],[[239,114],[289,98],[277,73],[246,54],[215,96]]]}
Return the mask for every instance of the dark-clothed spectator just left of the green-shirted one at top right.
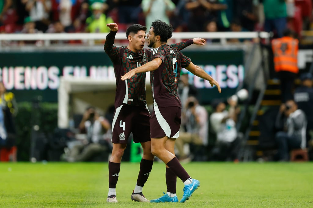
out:
{"label": "dark-clothed spectator just left of the green-shirted one at top right", "polygon": [[234,16],[239,19],[242,27],[249,31],[254,31],[258,21],[257,6],[258,1],[236,0],[234,1]]}

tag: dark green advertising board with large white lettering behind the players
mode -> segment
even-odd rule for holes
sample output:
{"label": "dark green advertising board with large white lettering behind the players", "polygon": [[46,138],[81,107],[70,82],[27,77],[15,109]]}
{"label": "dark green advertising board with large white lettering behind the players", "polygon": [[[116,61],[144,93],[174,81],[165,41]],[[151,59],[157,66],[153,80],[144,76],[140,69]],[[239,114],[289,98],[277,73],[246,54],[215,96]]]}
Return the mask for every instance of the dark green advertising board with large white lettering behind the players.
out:
{"label": "dark green advertising board with large white lettering behind the players", "polygon": [[[222,88],[222,93],[218,93],[216,87],[190,74],[189,82],[198,88],[201,103],[233,95],[244,79],[243,50],[182,52]],[[104,51],[0,53],[0,79],[18,101],[32,101],[41,96],[44,102],[57,102],[60,76],[92,77],[103,82],[115,80],[112,62]]]}

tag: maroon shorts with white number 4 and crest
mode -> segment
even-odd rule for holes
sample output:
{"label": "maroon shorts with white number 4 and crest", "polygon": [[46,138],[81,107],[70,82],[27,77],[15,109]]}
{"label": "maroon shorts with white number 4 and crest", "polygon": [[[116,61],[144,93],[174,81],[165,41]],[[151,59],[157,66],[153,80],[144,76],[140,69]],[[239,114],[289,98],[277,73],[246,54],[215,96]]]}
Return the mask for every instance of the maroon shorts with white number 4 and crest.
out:
{"label": "maroon shorts with white number 4 and crest", "polygon": [[151,141],[149,120],[150,113],[146,106],[122,104],[114,112],[111,142],[127,144],[131,132],[135,143]]}

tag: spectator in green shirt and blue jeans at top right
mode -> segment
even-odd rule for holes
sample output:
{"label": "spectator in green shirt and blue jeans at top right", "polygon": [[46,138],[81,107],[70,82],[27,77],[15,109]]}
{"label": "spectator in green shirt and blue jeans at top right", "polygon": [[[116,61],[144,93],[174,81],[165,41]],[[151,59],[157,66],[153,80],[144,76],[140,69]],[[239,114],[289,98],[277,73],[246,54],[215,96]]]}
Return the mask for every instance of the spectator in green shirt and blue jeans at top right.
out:
{"label": "spectator in green shirt and blue jeans at top right", "polygon": [[287,9],[285,0],[260,0],[264,7],[264,30],[276,32],[278,37],[283,37],[287,28]]}

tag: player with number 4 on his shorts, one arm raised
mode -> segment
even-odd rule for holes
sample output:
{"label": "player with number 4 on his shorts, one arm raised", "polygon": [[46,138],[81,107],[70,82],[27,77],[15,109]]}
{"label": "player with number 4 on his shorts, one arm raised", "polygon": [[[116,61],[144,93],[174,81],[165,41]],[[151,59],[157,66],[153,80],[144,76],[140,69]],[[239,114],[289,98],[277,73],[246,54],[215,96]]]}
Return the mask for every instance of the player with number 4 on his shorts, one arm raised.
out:
{"label": "player with number 4 on his shorts, one arm raised", "polygon": [[[112,123],[113,150],[109,160],[109,191],[107,202],[118,202],[116,199],[116,184],[120,174],[121,160],[126,149],[128,137],[133,133],[134,142],[140,142],[143,156],[140,162],[140,171],[131,200],[149,202],[142,194],[152,169],[154,155],[151,153],[151,139],[149,119],[150,113],[146,105],[146,73],[138,73],[129,80],[121,81],[120,76],[151,60],[151,49],[144,48],[146,27],[135,24],[126,30],[129,41],[127,47],[114,45],[115,34],[118,31],[116,23],[107,24],[110,33],[105,40],[104,49],[110,57],[116,78],[115,112]],[[202,38],[193,38],[172,47],[181,50],[189,45],[204,45]]]}

